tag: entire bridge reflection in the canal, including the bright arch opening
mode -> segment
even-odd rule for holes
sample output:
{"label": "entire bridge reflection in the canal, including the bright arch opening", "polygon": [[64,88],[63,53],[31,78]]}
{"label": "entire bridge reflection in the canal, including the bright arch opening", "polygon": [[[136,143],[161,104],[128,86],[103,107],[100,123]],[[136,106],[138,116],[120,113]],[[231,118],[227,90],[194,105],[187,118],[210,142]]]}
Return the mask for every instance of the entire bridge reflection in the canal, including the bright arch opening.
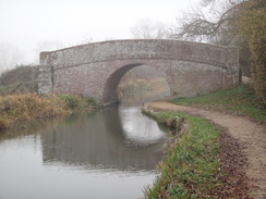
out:
{"label": "entire bridge reflection in the canal, including the bright arch opening", "polygon": [[140,109],[123,108],[119,112],[112,107],[49,129],[40,137],[45,163],[149,171],[161,159],[164,142],[159,141],[165,134]]}

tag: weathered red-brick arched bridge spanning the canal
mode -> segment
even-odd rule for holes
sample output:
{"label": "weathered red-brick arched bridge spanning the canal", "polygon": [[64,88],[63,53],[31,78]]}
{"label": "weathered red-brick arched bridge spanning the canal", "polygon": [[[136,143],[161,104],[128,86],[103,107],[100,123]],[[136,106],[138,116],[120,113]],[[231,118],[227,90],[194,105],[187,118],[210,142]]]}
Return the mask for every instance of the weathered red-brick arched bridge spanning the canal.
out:
{"label": "weathered red-brick arched bridge spanning the canal", "polygon": [[131,69],[148,65],[166,78],[171,96],[192,97],[239,83],[238,49],[178,40],[113,40],[40,53],[39,94],[77,94],[101,104],[117,101]]}

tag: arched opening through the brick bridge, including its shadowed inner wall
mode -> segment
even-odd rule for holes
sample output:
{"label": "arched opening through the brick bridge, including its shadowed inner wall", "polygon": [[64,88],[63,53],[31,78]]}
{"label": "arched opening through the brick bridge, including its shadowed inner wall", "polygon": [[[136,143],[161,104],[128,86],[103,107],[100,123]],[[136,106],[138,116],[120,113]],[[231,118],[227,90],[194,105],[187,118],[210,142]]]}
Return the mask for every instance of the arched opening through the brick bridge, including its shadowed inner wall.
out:
{"label": "arched opening through the brick bridge, including its shadowed inner wall", "polygon": [[143,103],[170,96],[166,74],[142,63],[129,64],[117,70],[104,88],[104,104],[126,101]]}

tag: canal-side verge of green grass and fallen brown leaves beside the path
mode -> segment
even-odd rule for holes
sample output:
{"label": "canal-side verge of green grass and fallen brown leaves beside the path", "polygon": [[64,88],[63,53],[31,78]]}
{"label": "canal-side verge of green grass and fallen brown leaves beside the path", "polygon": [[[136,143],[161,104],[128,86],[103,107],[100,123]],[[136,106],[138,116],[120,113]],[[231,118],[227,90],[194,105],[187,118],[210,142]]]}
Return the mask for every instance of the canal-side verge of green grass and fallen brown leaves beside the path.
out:
{"label": "canal-side verge of green grass and fallen brown leaves beside the path", "polygon": [[190,114],[180,111],[185,112],[167,102],[144,107],[158,122],[183,121],[159,163],[161,175],[145,198],[252,198],[242,144],[221,125],[197,117],[195,109]]}

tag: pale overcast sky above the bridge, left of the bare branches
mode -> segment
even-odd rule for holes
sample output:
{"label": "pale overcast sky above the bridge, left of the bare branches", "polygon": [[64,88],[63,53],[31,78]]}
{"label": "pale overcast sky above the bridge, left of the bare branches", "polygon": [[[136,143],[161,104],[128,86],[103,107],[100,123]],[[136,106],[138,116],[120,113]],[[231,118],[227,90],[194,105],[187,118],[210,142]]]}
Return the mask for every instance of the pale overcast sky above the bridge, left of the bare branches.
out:
{"label": "pale overcast sky above the bridge, left of the bare branches", "polygon": [[0,0],[0,43],[12,43],[33,62],[44,41],[76,45],[126,39],[131,28],[149,18],[166,24],[198,0]]}

